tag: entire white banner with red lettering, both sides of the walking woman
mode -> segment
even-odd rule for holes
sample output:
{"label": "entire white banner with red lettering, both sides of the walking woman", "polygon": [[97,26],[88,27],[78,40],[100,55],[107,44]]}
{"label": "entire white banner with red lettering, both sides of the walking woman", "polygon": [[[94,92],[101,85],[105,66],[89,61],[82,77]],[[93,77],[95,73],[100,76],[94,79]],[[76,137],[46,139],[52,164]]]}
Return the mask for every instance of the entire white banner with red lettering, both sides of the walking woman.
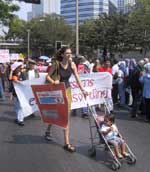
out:
{"label": "entire white banner with red lettering, both sides of the walking woman", "polygon": [[[42,85],[45,83],[46,73],[41,73],[40,78],[35,78],[32,81],[26,80],[20,83],[14,82],[14,87],[22,107],[24,117],[38,111],[31,85]],[[111,98],[112,76],[107,72],[82,74],[80,80],[86,91],[88,91],[88,103],[90,105],[103,103]],[[74,76],[70,79],[72,104],[71,109],[86,107],[86,101],[81,93]],[[41,90],[42,91],[42,90]]]}

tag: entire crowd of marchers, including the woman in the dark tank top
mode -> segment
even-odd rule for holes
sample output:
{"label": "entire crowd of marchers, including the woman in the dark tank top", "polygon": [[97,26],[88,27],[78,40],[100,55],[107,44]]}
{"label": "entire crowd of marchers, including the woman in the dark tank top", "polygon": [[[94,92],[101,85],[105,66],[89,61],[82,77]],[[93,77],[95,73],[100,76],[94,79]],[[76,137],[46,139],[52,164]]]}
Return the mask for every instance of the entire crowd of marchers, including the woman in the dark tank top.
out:
{"label": "entire crowd of marchers, including the woman in the dark tank top", "polygon": [[[44,72],[47,72],[46,80],[49,84],[58,84],[64,82],[66,86],[67,98],[71,103],[71,93],[69,78],[74,74],[75,79],[86,97],[88,93],[82,87],[79,79],[81,73],[93,72],[109,72],[113,77],[112,83],[112,108],[110,112],[114,113],[114,106],[120,108],[126,106],[131,108],[130,115],[132,118],[139,116],[144,117],[146,122],[150,122],[150,58],[144,58],[139,61],[136,59],[109,59],[100,58],[91,61],[84,56],[78,55],[72,59],[72,52],[69,47],[63,47],[56,54],[56,60],[59,66],[60,78],[54,80],[52,73],[56,69],[56,64],[46,61],[36,61],[37,59],[19,59],[11,64],[0,64],[0,98],[5,101],[5,92],[10,93],[10,100],[13,101],[14,111],[16,113],[15,122],[19,126],[24,126],[24,116],[21,114],[21,106],[15,92],[13,82],[21,82],[23,80],[32,80],[38,78],[42,66],[45,66]],[[43,72],[43,71],[42,71]],[[8,90],[7,90],[8,88]],[[70,106],[68,111],[70,112]],[[86,117],[87,108],[82,108],[82,117]],[[74,113],[76,113],[74,111]],[[51,125],[45,132],[45,138],[50,138]],[[64,149],[70,152],[75,151],[75,147],[69,142],[69,125],[64,130]]]}

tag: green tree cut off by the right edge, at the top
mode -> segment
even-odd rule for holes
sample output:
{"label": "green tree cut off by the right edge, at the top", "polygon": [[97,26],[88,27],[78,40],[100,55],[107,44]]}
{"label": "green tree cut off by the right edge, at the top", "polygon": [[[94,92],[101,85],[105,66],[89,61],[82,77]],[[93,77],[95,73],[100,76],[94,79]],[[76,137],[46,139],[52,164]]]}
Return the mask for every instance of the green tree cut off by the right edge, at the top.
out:
{"label": "green tree cut off by the right edge, at the top", "polygon": [[150,1],[136,0],[136,6],[129,15],[130,28],[134,32],[136,45],[150,49]]}

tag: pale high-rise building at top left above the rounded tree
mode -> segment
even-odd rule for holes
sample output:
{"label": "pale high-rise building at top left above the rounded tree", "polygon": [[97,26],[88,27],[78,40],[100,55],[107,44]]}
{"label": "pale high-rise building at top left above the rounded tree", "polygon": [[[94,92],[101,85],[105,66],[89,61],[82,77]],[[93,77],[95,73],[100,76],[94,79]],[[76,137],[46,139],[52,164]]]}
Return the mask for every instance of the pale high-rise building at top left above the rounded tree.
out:
{"label": "pale high-rise building at top left above the rounded tree", "polygon": [[52,13],[60,14],[60,0],[41,0],[41,4],[32,4],[32,18]]}

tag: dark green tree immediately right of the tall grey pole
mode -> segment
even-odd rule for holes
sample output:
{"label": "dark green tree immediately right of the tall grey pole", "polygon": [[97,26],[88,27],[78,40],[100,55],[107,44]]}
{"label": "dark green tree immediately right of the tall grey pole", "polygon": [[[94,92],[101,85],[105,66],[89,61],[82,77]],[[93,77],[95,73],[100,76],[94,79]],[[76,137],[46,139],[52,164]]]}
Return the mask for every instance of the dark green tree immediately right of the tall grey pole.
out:
{"label": "dark green tree immediately right of the tall grey pole", "polygon": [[[101,14],[80,26],[80,45],[112,53],[123,49],[127,42],[128,18],[123,14]],[[91,49],[91,51],[92,51]]]}

